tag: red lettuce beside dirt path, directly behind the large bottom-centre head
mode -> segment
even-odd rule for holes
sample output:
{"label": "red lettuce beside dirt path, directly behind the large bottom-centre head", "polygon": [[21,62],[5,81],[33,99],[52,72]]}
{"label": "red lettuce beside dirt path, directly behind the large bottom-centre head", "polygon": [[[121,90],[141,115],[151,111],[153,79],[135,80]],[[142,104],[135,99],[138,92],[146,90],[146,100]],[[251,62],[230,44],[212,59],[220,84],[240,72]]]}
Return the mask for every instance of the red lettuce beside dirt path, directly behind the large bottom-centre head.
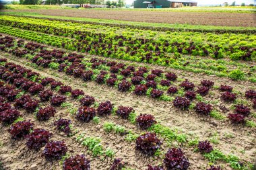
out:
{"label": "red lettuce beside dirt path, directly behind the large bottom-centre head", "polygon": [[136,124],[141,128],[142,130],[146,130],[150,128],[152,125],[156,124],[156,120],[154,116],[150,114],[140,114],[136,118]]}

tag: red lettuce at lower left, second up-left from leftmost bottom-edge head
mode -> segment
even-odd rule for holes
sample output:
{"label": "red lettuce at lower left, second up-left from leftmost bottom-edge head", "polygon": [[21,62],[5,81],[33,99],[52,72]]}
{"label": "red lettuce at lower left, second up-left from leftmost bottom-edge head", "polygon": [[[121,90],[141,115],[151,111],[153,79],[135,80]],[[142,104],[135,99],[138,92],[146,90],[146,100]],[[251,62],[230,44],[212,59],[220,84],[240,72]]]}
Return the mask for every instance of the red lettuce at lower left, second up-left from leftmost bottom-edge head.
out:
{"label": "red lettuce at lower left, second up-left from leftmost bottom-edge head", "polygon": [[31,134],[28,135],[26,145],[30,149],[38,150],[46,143],[53,134],[47,130],[36,128]]}

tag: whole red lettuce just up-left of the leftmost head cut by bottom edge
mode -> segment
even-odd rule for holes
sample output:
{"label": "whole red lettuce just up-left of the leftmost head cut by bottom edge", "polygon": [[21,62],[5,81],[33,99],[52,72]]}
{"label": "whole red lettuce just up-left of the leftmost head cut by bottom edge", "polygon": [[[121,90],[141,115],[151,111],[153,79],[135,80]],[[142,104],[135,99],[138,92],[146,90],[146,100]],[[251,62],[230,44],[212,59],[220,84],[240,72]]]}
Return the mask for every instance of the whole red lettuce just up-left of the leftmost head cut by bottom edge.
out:
{"label": "whole red lettuce just up-left of the leftmost head cut by bottom edge", "polygon": [[67,153],[67,146],[64,141],[48,142],[42,151],[46,159],[61,159]]}

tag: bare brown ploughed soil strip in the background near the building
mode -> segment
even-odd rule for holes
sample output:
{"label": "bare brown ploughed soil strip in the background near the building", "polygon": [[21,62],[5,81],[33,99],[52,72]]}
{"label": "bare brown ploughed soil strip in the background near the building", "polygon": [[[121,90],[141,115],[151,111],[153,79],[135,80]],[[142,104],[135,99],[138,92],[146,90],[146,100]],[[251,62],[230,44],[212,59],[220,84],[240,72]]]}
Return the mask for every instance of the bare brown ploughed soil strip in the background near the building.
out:
{"label": "bare brown ploughed soil strip in the background near the building", "polygon": [[[11,9],[4,11],[13,11]],[[132,22],[155,22],[168,24],[193,24],[211,26],[256,26],[255,13],[210,13],[173,11],[133,11],[97,9],[20,9],[17,12],[32,12],[43,15],[66,17],[87,17],[98,19],[117,19]]]}

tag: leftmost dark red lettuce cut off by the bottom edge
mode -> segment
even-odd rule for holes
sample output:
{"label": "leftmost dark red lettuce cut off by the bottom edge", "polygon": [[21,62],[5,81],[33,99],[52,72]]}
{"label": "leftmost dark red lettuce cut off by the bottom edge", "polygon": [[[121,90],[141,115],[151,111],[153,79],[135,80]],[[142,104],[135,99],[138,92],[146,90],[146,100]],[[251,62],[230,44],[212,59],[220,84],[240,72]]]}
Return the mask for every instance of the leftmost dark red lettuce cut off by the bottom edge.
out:
{"label": "leftmost dark red lettuce cut off by the bottom edge", "polygon": [[65,159],[63,163],[64,170],[90,170],[90,161],[84,155],[75,155]]}

